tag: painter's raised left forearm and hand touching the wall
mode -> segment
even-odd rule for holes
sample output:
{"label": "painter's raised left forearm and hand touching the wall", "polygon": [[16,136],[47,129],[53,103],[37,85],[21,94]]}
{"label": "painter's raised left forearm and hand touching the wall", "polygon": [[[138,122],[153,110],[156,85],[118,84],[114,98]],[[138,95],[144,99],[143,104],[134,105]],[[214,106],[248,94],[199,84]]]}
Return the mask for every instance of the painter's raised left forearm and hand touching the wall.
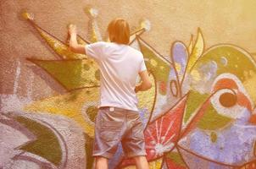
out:
{"label": "painter's raised left forearm and hand touching the wall", "polygon": [[69,34],[70,34],[70,43],[69,43],[70,51],[75,53],[86,54],[85,46],[77,43],[75,25],[69,25]]}

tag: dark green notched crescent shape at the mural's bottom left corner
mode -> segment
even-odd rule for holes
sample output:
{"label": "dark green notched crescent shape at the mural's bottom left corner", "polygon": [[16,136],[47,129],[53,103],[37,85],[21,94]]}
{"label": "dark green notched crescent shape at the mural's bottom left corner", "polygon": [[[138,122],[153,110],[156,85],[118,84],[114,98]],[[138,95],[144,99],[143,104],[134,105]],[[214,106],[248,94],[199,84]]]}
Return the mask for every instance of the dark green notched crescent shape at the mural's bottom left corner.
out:
{"label": "dark green notched crescent shape at the mural's bottom left corner", "polygon": [[58,143],[58,138],[53,131],[41,123],[36,123],[30,118],[15,117],[15,119],[28,128],[32,134],[36,135],[35,141],[25,144],[19,149],[42,156],[42,158],[58,166],[62,158],[62,151]]}

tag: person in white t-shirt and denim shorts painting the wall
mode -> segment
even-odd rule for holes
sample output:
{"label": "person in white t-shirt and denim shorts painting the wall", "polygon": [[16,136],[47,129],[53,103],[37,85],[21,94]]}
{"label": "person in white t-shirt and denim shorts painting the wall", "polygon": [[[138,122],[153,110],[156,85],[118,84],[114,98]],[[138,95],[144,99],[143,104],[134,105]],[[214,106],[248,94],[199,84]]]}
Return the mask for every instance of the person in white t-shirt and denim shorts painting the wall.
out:
{"label": "person in white t-shirt and denim shorts painting the wall", "polygon": [[[82,46],[76,41],[75,25],[70,25],[70,50],[96,60],[100,68],[100,103],[95,122],[93,156],[97,169],[108,168],[121,142],[125,156],[136,161],[136,168],[147,169],[142,121],[136,92],[151,88],[142,52],[129,46],[130,28],[124,19],[108,26],[110,42]],[[136,86],[137,75],[142,79]]]}

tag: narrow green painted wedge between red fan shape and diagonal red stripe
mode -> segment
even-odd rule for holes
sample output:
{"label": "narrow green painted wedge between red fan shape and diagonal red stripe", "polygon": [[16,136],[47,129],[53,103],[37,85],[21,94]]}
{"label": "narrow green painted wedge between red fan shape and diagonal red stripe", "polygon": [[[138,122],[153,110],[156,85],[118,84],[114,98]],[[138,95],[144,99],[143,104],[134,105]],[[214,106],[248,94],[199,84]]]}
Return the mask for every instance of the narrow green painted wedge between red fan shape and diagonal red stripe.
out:
{"label": "narrow green painted wedge between red fan shape and diagonal red stripe", "polygon": [[186,101],[186,113],[184,117],[184,122],[186,123],[189,118],[194,114],[197,109],[203,105],[203,102],[209,97],[208,94],[200,94],[198,91],[191,90]]}

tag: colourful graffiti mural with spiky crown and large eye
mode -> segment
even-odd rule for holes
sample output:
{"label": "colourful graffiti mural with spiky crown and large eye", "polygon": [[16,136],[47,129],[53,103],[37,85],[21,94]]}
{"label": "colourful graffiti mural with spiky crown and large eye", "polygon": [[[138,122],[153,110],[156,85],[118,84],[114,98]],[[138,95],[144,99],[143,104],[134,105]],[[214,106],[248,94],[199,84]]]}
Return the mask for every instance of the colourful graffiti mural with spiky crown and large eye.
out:
{"label": "colourful graffiti mural with spiky crown and large eye", "polygon": [[[91,19],[91,38],[87,41],[79,35],[79,43],[102,41],[97,10],[86,8],[86,14]],[[8,107],[15,105],[1,106],[0,167],[92,168],[100,80],[97,63],[70,52],[66,42],[36,24],[33,14],[25,11],[22,15],[58,55],[54,60],[27,60],[66,93],[24,101],[14,111]],[[192,36],[188,46],[174,41],[170,57],[164,57],[142,38],[147,30],[150,22],[143,20],[133,30],[130,45],[143,53],[153,82],[151,90],[138,93],[150,167],[256,168],[256,63],[252,55],[231,44],[205,49],[198,29],[197,38]],[[18,64],[17,78],[19,72]],[[8,102],[9,97],[1,99]],[[119,146],[109,167],[135,168],[135,163],[125,158]]]}

